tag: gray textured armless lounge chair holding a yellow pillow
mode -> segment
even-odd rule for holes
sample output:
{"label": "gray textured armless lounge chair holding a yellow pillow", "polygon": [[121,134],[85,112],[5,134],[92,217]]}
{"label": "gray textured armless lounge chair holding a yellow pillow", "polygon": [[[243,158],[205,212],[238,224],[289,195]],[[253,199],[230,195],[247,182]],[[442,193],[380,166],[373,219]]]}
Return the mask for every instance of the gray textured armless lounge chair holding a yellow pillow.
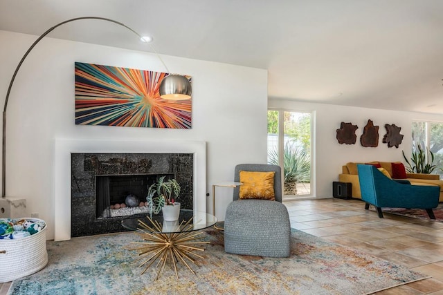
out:
{"label": "gray textured armless lounge chair holding a yellow pillow", "polygon": [[239,171],[275,171],[274,200],[239,200],[239,187],[234,189],[233,202],[226,209],[224,248],[227,253],[288,257],[291,252],[289,213],[282,204],[280,166],[269,164],[239,164],[235,166],[234,181]]}

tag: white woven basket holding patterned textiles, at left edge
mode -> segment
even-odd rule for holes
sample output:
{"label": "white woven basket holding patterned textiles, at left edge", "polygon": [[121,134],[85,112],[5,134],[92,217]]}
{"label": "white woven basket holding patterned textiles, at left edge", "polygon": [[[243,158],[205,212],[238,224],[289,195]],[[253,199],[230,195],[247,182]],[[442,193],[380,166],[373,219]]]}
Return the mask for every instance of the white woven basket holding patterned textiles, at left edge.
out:
{"label": "white woven basket holding patterned textiles, at left edge", "polygon": [[[38,218],[22,219],[43,221]],[[46,227],[26,238],[0,240],[0,283],[29,276],[46,266]]]}

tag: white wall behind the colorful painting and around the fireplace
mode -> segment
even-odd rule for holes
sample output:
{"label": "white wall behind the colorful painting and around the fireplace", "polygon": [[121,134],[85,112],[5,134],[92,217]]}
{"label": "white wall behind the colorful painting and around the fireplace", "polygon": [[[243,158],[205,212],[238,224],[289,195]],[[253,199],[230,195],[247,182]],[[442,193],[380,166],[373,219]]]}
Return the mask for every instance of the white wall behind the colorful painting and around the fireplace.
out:
{"label": "white wall behind the colorful painting and around the fireplace", "polygon": [[[0,30],[2,105],[15,66],[35,39]],[[233,179],[235,164],[266,162],[266,70],[162,58],[173,73],[192,75],[190,130],[75,125],[75,61],[165,71],[151,53],[46,37],[24,62],[8,104],[6,195],[26,198],[28,213],[48,222],[48,238],[53,238],[55,138],[204,141],[208,193],[214,182]],[[232,191],[217,191],[220,220],[230,200]],[[212,196],[207,201],[210,212]]]}

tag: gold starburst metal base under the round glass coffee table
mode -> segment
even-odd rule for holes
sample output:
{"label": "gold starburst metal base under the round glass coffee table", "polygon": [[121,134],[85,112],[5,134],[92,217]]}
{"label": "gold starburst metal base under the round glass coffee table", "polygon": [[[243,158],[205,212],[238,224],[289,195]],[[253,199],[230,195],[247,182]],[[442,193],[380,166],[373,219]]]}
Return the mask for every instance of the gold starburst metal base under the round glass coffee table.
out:
{"label": "gold starburst metal base under the round glass coffee table", "polygon": [[174,267],[177,278],[179,278],[178,263],[186,265],[192,274],[195,274],[188,263],[197,265],[194,256],[204,259],[203,256],[195,254],[195,251],[204,251],[204,248],[198,245],[209,244],[210,242],[201,241],[201,231],[192,231],[193,225],[190,223],[192,218],[188,222],[183,220],[179,225],[179,232],[175,233],[162,233],[162,225],[159,222],[152,220],[149,216],[147,216],[147,219],[150,220],[152,226],[138,220],[137,234],[143,238],[143,242],[131,242],[131,244],[138,246],[129,249],[138,251],[138,256],[141,256],[135,260],[135,262],[142,262],[138,267],[145,267],[141,274],[144,274],[157,260],[155,280],[159,278],[168,261]]}

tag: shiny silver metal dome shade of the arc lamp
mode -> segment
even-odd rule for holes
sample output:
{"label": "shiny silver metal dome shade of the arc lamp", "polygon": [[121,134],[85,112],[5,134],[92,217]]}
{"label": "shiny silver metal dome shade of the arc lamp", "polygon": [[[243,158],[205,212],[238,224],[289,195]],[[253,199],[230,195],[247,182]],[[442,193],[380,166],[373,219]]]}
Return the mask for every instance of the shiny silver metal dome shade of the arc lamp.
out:
{"label": "shiny silver metal dome shade of the arc lamp", "polygon": [[168,75],[160,83],[160,97],[163,99],[190,99],[192,87],[189,80],[182,75]]}

